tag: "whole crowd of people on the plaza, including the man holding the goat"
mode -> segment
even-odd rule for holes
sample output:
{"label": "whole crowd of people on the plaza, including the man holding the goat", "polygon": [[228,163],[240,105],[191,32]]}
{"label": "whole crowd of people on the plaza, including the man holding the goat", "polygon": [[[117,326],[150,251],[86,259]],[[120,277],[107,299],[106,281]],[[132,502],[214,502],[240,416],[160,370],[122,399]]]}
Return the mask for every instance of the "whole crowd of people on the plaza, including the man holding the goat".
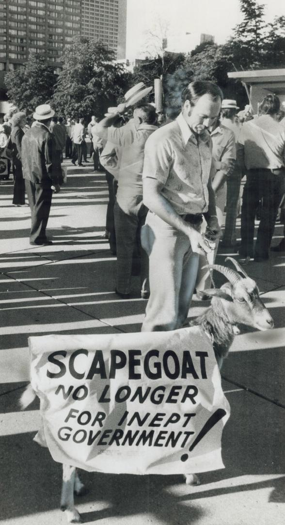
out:
{"label": "whole crowd of people on the plaza, including the man holding the goat", "polygon": [[[25,205],[27,193],[31,245],[52,244],[46,227],[52,194],[63,183],[63,152],[73,165],[92,159],[94,172],[105,172],[115,292],[129,298],[131,276],[139,274],[141,298],[148,299],[142,330],[173,330],[185,323],[194,293],[208,297],[205,265],[214,263],[219,243],[245,260],[269,258],[284,200],[285,119],[275,95],[254,115],[250,106],[239,111],[214,83],[195,81],[182,92],[179,116],[168,121],[145,101],[148,90],[139,83],[131,111],[121,103],[88,125],[83,118],[63,123],[49,104],[36,108],[31,125],[14,112],[0,128],[0,153],[13,169],[13,205]],[[271,249],[285,249],[285,239]]]}

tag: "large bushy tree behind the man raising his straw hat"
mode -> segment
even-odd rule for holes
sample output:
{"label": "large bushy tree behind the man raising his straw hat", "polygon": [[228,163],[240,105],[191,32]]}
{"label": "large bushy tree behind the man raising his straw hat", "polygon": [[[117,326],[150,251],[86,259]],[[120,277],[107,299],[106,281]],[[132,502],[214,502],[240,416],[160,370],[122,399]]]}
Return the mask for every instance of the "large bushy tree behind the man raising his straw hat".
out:
{"label": "large bushy tree behind the man raising his straw hat", "polygon": [[77,37],[65,47],[53,106],[65,117],[102,116],[129,88],[131,75],[100,41]]}

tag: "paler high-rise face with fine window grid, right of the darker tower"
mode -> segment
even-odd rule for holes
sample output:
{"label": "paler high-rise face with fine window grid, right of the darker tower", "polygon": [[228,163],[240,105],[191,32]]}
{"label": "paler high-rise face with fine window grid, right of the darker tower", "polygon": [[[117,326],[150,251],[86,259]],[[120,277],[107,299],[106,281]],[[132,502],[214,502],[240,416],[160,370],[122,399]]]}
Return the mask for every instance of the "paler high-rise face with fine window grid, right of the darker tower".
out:
{"label": "paler high-rise face with fine window grid, right of the darker tower", "polygon": [[127,0],[82,0],[82,35],[98,38],[118,59],[126,56]]}

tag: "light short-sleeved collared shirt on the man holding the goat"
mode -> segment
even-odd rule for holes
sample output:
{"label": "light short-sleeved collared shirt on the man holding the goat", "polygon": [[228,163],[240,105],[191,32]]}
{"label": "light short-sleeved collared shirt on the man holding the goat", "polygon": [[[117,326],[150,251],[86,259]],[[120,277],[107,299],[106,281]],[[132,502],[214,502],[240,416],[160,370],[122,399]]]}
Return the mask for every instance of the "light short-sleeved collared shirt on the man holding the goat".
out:
{"label": "light short-sleeved collared shirt on the man holding the goat", "polygon": [[147,140],[143,178],[163,184],[161,194],[179,215],[203,213],[209,204],[211,162],[210,134],[194,135],[181,113]]}

